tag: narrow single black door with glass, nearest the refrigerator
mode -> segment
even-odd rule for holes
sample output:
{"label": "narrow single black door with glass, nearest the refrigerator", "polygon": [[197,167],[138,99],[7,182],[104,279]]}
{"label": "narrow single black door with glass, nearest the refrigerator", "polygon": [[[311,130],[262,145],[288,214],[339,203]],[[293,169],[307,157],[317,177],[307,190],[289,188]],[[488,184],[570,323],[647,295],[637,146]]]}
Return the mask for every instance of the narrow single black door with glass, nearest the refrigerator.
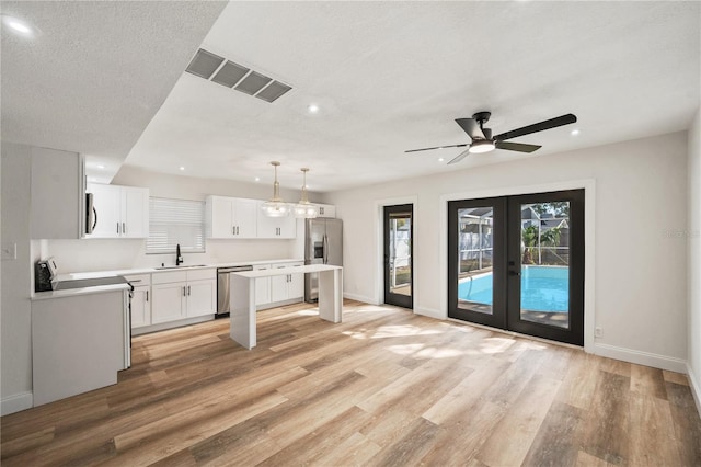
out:
{"label": "narrow single black door with glass, nearest the refrigerator", "polygon": [[412,234],[414,206],[384,206],[384,303],[414,308]]}

